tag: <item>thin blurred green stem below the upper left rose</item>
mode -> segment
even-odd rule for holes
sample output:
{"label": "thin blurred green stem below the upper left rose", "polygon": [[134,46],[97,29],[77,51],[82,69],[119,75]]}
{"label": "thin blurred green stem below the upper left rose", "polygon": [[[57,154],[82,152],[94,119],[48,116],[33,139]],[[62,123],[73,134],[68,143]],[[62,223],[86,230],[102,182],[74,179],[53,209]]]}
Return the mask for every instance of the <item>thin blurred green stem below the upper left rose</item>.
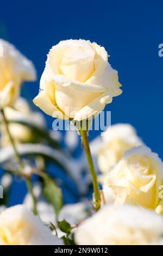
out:
{"label": "thin blurred green stem below the upper left rose", "polygon": [[[14,141],[14,139],[11,136],[11,133],[10,133],[10,130],[9,130],[9,125],[8,125],[8,120],[5,117],[4,110],[1,109],[1,112],[2,112],[2,117],[3,117],[3,122],[4,122],[5,129],[6,129],[7,133],[8,133],[8,136],[9,136],[9,139],[10,139],[10,143],[11,143],[12,148],[13,148],[14,153],[15,153],[16,160],[17,160],[17,162],[18,162],[18,164],[20,166],[20,170],[19,170],[19,172],[17,172],[17,174],[23,175],[23,169],[24,169],[23,161],[21,159],[20,154],[17,151],[16,145],[15,145],[15,141]],[[35,199],[35,196],[34,196],[34,193],[33,193],[32,182],[31,182],[30,178],[26,177],[26,175],[24,175],[24,177],[26,179],[26,184],[27,184],[27,187],[28,187],[28,191],[29,191],[29,193],[30,193],[30,195],[32,196],[32,199],[33,199],[33,212],[34,212],[35,215],[37,215],[36,199]]]}

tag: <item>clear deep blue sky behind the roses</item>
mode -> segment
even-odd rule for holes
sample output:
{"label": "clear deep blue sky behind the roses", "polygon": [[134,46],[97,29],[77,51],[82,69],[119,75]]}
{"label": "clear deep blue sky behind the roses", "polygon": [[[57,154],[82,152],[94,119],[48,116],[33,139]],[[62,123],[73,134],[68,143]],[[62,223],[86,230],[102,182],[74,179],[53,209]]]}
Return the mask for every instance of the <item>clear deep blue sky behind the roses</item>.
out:
{"label": "clear deep blue sky behind the roses", "polygon": [[[158,56],[158,45],[163,43],[162,7],[162,1],[3,1],[0,36],[36,66],[38,81],[26,86],[31,101],[49,48],[71,38],[103,45],[123,85],[123,94],[106,107],[112,112],[112,124],[134,125],[163,159],[163,57]],[[52,118],[47,119],[51,127]]]}

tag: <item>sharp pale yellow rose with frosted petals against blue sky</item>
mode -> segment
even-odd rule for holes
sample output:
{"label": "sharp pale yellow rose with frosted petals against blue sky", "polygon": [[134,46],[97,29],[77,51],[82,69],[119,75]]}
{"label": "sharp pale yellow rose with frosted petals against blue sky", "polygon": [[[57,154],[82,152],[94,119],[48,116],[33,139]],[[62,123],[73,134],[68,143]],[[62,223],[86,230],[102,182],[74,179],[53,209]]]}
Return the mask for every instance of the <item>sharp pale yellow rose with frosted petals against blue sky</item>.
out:
{"label": "sharp pale yellow rose with frosted petals against blue sky", "polygon": [[101,112],[122,93],[120,86],[104,47],[81,39],[60,41],[49,51],[34,103],[53,117],[80,121]]}

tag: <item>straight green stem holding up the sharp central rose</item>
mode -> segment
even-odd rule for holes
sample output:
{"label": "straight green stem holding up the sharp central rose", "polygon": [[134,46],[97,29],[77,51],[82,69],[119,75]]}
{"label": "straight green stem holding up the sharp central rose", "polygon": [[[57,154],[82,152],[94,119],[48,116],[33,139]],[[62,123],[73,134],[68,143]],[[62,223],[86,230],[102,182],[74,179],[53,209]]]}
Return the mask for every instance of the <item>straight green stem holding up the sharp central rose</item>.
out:
{"label": "straight green stem holding up the sharp central rose", "polygon": [[88,139],[86,130],[80,129],[79,132],[82,137],[85,154],[87,157],[87,162],[89,164],[90,173],[92,176],[93,190],[94,190],[94,196],[95,196],[95,205],[96,205],[95,209],[98,210],[101,206],[101,195],[100,195],[100,191],[99,191],[95,168],[93,166],[93,160],[92,160],[92,155],[91,155],[90,146],[89,146],[89,139]]}

